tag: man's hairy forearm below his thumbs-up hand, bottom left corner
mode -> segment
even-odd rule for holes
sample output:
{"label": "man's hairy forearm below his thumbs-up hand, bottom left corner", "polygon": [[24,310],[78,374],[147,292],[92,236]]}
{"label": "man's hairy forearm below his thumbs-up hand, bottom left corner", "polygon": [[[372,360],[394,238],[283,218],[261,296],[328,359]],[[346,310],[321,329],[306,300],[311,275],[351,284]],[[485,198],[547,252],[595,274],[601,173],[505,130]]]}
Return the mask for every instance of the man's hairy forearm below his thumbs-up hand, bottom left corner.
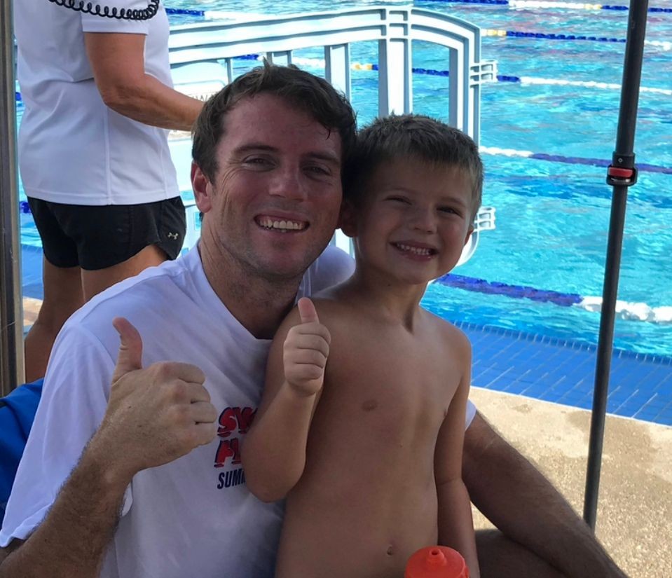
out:
{"label": "man's hairy forearm below his thumbs-up hand, bottom left corner", "polygon": [[126,485],[87,448],[39,528],[0,556],[0,578],[97,577]]}

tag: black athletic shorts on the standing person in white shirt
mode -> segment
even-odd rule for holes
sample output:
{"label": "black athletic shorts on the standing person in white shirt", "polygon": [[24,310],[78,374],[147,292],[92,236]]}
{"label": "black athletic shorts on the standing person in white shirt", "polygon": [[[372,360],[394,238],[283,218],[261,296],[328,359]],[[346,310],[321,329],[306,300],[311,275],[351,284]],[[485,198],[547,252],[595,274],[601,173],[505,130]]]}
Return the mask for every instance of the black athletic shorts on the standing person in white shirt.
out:
{"label": "black athletic shorts on the standing person in white shirt", "polygon": [[28,198],[44,256],[55,267],[98,270],[118,265],[149,245],[179,255],[186,218],[179,197],[144,205],[63,205]]}

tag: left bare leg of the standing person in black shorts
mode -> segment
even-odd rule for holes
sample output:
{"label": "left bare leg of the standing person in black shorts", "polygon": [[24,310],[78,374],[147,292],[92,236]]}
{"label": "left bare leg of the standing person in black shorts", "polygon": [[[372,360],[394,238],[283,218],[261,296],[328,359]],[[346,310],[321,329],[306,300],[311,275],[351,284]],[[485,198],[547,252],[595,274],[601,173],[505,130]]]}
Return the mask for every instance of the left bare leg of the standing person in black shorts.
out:
{"label": "left bare leg of the standing person in black shorts", "polygon": [[42,284],[44,301],[24,343],[27,382],[44,377],[58,332],[84,303],[78,267],[56,267],[42,259]]}

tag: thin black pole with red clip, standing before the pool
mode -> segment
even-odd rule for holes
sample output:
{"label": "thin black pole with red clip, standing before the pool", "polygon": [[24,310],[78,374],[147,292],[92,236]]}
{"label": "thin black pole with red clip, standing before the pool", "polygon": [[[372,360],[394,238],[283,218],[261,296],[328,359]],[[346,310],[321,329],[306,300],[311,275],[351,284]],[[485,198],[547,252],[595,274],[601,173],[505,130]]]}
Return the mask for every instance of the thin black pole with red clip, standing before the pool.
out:
{"label": "thin black pole with red clip, standing before the pool", "polygon": [[636,182],[633,143],[635,140],[639,85],[642,76],[647,10],[648,0],[631,0],[628,35],[625,45],[625,60],[623,64],[616,150],[607,177],[607,182],[614,186],[614,197],[611,206],[607,259],[605,263],[605,280],[602,294],[602,314],[595,369],[595,389],[593,411],[591,414],[583,514],[584,520],[593,530],[595,529],[600,487],[605,414],[607,411],[618,277],[621,265],[626,202],[628,198],[627,191],[628,187]]}

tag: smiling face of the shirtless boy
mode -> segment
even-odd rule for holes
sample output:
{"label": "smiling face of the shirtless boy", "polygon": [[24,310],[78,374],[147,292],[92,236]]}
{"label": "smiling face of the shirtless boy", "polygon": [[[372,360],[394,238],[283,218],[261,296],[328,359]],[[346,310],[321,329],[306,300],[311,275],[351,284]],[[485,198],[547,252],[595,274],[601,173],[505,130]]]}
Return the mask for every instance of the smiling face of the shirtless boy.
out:
{"label": "smiling face of the shirtless boy", "polygon": [[359,270],[425,284],[460,259],[473,230],[472,184],[452,166],[412,159],[380,163],[345,217],[352,219]]}

